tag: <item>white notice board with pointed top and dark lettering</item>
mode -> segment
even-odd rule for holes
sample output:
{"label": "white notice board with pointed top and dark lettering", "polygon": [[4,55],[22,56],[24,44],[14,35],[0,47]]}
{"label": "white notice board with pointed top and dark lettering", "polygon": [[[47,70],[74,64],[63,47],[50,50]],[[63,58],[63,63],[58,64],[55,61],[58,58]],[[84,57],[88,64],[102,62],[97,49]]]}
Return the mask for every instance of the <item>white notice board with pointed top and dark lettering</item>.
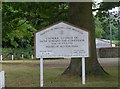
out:
{"label": "white notice board with pointed top and dark lettering", "polygon": [[89,57],[88,37],[87,31],[59,22],[35,33],[35,57]]}

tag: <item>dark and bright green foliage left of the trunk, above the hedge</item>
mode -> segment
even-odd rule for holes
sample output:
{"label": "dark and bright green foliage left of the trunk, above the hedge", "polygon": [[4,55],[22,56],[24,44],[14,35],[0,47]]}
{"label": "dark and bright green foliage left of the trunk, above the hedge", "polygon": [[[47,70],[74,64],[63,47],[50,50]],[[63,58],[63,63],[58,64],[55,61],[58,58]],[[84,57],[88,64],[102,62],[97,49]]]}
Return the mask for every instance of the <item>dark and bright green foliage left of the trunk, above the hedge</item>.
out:
{"label": "dark and bright green foliage left of the trunk, above the hedge", "polygon": [[68,3],[4,2],[3,47],[33,46],[36,29],[65,20],[67,9]]}

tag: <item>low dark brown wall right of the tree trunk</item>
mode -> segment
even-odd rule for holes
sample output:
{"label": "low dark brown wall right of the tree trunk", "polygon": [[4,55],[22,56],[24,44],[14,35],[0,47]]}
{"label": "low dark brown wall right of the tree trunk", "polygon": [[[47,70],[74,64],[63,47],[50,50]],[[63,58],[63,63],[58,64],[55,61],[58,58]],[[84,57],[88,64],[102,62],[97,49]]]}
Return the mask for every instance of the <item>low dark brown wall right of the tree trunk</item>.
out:
{"label": "low dark brown wall right of the tree trunk", "polygon": [[99,58],[119,58],[120,47],[97,48],[97,55]]}

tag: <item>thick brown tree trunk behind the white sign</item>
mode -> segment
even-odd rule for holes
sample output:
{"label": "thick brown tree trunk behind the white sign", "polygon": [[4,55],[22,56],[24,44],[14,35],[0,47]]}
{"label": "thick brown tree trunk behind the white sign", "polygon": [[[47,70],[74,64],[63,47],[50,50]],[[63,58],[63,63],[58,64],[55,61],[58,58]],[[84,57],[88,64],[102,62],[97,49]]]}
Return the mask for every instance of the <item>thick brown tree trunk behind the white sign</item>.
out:
{"label": "thick brown tree trunk behind the white sign", "polygon": [[[68,13],[70,15],[68,22],[78,27],[84,28],[89,32],[90,57],[86,59],[86,75],[106,75],[106,72],[97,60],[95,44],[95,24],[92,15],[92,3],[71,2]],[[81,58],[71,58],[71,62],[63,74],[81,76],[81,68]]]}

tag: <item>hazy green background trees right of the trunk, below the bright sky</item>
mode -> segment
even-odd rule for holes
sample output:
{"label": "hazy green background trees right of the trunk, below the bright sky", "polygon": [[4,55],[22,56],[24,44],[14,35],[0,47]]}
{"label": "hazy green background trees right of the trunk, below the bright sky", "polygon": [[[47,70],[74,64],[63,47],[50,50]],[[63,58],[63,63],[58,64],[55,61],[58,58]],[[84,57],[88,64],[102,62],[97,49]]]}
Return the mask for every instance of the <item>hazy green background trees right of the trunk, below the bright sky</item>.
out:
{"label": "hazy green background trees right of the trunk, below the bright sky", "polygon": [[95,32],[97,38],[110,39],[110,25],[112,30],[112,39],[118,39],[118,22],[114,15],[104,17],[104,20],[100,21],[100,17],[94,16]]}

